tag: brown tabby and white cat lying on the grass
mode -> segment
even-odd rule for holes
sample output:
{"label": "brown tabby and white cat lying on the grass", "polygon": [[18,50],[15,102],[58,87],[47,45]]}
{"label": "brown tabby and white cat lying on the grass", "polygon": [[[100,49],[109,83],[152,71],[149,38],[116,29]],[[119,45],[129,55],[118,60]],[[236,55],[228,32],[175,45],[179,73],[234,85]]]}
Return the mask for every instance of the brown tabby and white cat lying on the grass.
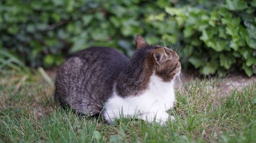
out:
{"label": "brown tabby and white cat lying on the grass", "polygon": [[164,124],[174,107],[178,54],[148,45],[137,35],[131,60],[109,47],[78,52],[57,71],[54,98],[80,114],[102,116],[108,124],[121,117]]}

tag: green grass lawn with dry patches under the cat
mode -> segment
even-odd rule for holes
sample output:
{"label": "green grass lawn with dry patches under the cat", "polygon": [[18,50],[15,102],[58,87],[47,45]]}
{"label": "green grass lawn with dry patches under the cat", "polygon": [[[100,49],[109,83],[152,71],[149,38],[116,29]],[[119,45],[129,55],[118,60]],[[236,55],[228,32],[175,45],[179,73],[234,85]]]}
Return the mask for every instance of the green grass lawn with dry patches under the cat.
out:
{"label": "green grass lawn with dry patches under the cat", "polygon": [[[15,80],[13,80],[13,78]],[[39,75],[0,78],[0,142],[256,142],[256,82],[225,95],[225,79],[193,80],[177,89],[176,117],[166,126],[78,116],[53,102],[54,87]]]}

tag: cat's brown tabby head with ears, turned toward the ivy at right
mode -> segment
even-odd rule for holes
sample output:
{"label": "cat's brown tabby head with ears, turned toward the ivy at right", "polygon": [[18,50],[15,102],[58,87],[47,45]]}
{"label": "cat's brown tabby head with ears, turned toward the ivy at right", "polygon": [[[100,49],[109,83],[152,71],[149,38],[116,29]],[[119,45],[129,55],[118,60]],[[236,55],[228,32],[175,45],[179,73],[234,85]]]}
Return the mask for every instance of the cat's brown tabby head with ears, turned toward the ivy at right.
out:
{"label": "cat's brown tabby head with ears, turned toward the ivy at right", "polygon": [[162,78],[163,81],[171,81],[180,74],[181,63],[176,51],[158,45],[148,45],[140,35],[136,36],[135,44],[136,52],[147,54],[145,68]]}

